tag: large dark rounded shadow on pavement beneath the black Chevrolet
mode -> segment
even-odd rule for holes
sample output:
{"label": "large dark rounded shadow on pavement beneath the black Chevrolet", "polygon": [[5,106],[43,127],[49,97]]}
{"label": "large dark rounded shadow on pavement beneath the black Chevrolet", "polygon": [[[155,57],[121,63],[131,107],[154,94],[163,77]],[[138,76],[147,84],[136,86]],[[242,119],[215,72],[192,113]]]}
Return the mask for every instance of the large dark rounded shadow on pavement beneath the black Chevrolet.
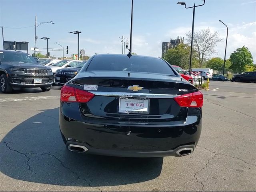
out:
{"label": "large dark rounded shadow on pavement beneath the black Chevrolet", "polygon": [[139,183],[160,175],[163,158],[117,158],[66,150],[58,111],[42,110],[3,138],[2,173],[29,182],[92,187]]}

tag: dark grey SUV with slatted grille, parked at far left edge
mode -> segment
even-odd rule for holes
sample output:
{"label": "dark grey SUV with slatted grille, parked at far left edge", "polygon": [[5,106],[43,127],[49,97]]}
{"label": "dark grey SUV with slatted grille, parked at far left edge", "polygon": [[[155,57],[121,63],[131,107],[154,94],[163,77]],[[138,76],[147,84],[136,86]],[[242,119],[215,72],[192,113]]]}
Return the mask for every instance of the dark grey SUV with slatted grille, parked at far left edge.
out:
{"label": "dark grey SUV with slatted grille, parked at far left edge", "polygon": [[53,83],[51,68],[42,66],[29,54],[0,50],[0,90],[10,93],[22,87],[40,87],[49,91]]}

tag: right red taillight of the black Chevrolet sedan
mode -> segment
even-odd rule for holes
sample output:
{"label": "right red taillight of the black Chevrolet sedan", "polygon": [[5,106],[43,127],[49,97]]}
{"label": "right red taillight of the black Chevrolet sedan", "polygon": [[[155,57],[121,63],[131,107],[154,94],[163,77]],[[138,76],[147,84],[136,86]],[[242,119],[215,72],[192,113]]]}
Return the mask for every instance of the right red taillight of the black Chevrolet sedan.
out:
{"label": "right red taillight of the black Chevrolet sedan", "polygon": [[203,94],[200,91],[175,97],[174,100],[181,107],[202,107],[204,102]]}

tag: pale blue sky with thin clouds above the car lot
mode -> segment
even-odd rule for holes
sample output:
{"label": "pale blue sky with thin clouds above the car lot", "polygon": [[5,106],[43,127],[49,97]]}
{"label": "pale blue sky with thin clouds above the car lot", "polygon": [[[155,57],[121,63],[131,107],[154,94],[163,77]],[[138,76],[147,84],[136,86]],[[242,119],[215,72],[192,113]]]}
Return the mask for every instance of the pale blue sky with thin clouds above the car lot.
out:
{"label": "pale blue sky with thin clouds above the car lot", "polygon": [[[192,27],[192,9],[176,4],[179,0],[134,0],[132,52],[161,56],[162,42],[184,36]],[[201,0],[185,0],[187,6]],[[28,41],[34,47],[34,23],[37,14],[37,36],[49,37],[49,48],[60,48],[55,42],[69,46],[69,54],[77,53],[77,35],[68,31],[79,30],[80,48],[86,55],[95,53],[122,53],[118,37],[130,38],[131,0],[0,0],[0,26],[4,26],[4,40]],[[216,47],[224,58],[226,27],[228,25],[227,58],[236,48],[247,46],[256,62],[256,0],[206,0],[196,8],[195,31],[210,28],[218,31],[223,42]],[[10,29],[22,28],[23,29]],[[10,27],[10,28],[7,28]],[[0,38],[2,42],[2,36]],[[46,47],[46,40],[38,39],[37,47]],[[2,49],[2,43],[0,44]],[[128,50],[126,50],[126,53]],[[46,52],[42,52],[46,53]],[[32,51],[30,51],[32,54]],[[51,52],[62,56],[62,51]]]}

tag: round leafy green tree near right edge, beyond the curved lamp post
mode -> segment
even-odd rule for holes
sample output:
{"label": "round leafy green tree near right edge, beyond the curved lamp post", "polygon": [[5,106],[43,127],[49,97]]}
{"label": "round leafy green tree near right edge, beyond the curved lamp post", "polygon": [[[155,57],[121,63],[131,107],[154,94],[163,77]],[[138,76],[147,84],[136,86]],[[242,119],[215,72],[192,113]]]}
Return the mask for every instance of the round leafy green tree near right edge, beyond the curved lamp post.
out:
{"label": "round leafy green tree near right edge, beyond the curved lamp post", "polygon": [[238,72],[241,74],[253,67],[253,58],[249,49],[245,46],[238,48],[230,55],[230,62],[232,63],[230,68],[233,72]]}

